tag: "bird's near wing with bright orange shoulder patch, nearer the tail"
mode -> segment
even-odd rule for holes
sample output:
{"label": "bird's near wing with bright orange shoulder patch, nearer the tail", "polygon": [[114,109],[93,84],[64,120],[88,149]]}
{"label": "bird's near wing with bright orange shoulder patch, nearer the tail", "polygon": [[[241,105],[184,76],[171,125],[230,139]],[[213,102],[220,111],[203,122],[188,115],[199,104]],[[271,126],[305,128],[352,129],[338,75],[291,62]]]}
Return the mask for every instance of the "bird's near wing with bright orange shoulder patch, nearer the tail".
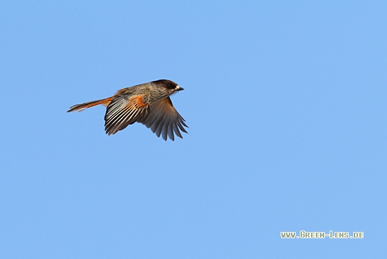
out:
{"label": "bird's near wing with bright orange shoulder patch, nearer the tail", "polygon": [[105,131],[111,135],[149,113],[149,95],[127,96],[119,94],[106,107]]}

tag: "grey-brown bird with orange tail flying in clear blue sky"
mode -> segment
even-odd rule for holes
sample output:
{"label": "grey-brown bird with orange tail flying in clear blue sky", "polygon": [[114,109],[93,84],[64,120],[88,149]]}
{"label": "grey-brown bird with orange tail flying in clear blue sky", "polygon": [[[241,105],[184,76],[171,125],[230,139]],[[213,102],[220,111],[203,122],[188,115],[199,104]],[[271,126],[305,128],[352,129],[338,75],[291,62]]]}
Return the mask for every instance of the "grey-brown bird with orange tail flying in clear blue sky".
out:
{"label": "grey-brown bird with orange tail flying in clear blue sky", "polygon": [[73,105],[67,112],[104,105],[106,134],[115,134],[138,122],[151,128],[158,137],[161,134],[164,141],[167,141],[167,136],[174,141],[173,132],[181,139],[180,130],[188,133],[184,128],[188,127],[185,119],[176,111],[169,98],[182,90],[184,88],[179,87],[176,82],[162,79],[118,90],[114,96],[105,99]]}

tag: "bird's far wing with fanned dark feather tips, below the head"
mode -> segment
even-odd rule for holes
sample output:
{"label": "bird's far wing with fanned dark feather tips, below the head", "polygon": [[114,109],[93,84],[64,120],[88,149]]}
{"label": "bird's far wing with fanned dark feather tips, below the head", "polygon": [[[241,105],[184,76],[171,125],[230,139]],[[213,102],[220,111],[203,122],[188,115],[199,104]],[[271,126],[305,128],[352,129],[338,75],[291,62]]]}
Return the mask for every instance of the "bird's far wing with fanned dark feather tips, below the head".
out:
{"label": "bird's far wing with fanned dark feather tips, below the head", "polygon": [[173,132],[182,139],[179,129],[182,132],[188,133],[183,127],[188,127],[185,124],[185,119],[182,118],[175,107],[173,107],[171,98],[169,97],[151,105],[151,111],[148,114],[145,114],[138,122],[144,124],[148,128],[150,127],[152,132],[158,137],[162,134],[162,139],[164,139],[164,141],[167,141],[167,136],[174,141],[175,136],[173,135]]}

